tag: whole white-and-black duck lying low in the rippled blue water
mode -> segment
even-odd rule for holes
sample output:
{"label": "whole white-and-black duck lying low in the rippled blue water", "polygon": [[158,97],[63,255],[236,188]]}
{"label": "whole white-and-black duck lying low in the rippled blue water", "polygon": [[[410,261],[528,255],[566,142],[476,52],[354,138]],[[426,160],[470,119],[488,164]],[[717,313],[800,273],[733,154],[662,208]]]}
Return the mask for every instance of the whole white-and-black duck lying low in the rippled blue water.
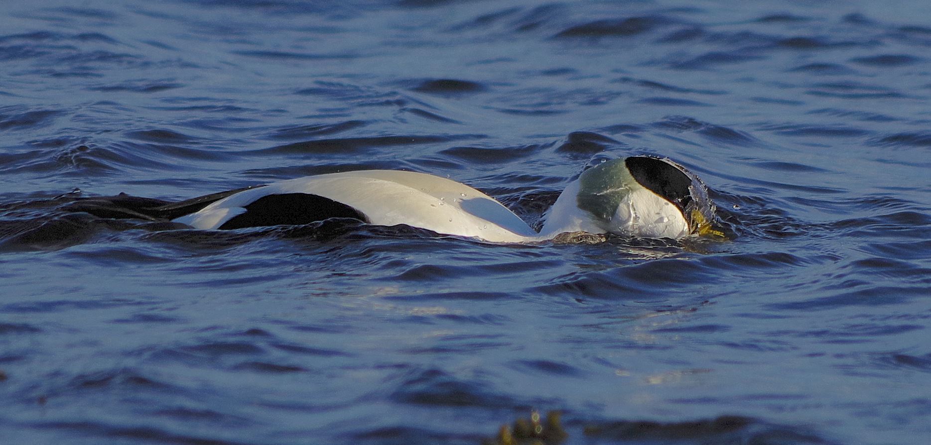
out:
{"label": "whole white-and-black duck lying low in the rippled blue water", "polygon": [[209,230],[348,217],[511,243],[542,241],[566,232],[680,238],[701,233],[712,214],[713,205],[695,175],[668,159],[633,156],[583,173],[548,211],[540,233],[472,187],[398,170],[275,182],[231,192],[172,221]]}

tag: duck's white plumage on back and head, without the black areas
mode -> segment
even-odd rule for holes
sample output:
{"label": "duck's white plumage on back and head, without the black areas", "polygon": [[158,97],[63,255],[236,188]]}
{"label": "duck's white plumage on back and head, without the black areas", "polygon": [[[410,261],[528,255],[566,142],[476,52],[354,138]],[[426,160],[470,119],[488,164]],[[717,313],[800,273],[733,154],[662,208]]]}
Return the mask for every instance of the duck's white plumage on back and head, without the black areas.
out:
{"label": "duck's white plumage on back and head, without the black areas", "polygon": [[[264,196],[307,194],[356,209],[372,224],[407,224],[490,242],[541,241],[565,232],[672,238],[692,232],[683,209],[668,196],[637,182],[623,159],[609,163],[587,170],[567,187],[547,212],[541,233],[479,190],[438,176],[399,170],[347,171],[275,182],[227,196],[173,221],[217,229]],[[599,209],[602,201],[611,208]]]}

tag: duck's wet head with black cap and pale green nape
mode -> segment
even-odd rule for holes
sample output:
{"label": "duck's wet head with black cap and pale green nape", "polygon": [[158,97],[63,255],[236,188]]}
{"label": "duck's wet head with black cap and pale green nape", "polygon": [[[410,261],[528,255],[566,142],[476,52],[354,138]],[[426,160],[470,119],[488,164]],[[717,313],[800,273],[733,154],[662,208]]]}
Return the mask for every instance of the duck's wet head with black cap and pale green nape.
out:
{"label": "duck's wet head with black cap and pale green nape", "polygon": [[716,233],[705,184],[669,159],[605,161],[587,169],[576,184],[575,205],[604,232],[657,238]]}

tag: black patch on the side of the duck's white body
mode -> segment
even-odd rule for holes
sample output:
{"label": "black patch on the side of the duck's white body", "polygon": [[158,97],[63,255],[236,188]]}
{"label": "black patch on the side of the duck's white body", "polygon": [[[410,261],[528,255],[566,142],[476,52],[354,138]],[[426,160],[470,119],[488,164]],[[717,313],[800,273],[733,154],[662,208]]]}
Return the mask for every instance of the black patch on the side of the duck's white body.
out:
{"label": "black patch on the side of the duck's white body", "polygon": [[223,223],[220,229],[241,229],[278,224],[307,224],[330,218],[353,218],[369,222],[362,212],[330,198],[305,193],[262,196]]}

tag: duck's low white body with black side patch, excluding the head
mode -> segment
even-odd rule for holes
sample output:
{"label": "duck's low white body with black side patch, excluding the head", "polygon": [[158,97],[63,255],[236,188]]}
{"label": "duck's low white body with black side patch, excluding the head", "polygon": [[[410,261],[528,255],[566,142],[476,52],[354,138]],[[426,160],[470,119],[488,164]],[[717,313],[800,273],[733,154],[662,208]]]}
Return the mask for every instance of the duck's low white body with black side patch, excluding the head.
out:
{"label": "duck's low white body with black side patch, excluding the head", "polygon": [[[323,199],[315,203],[302,195]],[[527,223],[491,196],[466,184],[400,170],[346,171],[275,182],[225,197],[174,222],[197,229],[281,223],[281,215],[267,211],[263,200],[276,200],[279,207],[304,204],[304,207],[329,208],[321,214],[308,216],[310,221],[304,223],[349,217],[376,225],[407,224],[440,234],[477,237],[491,242],[522,242],[537,236]],[[253,206],[258,209],[252,209]],[[248,225],[240,223],[255,211],[262,214],[252,216]],[[255,223],[263,217],[264,223]]]}

